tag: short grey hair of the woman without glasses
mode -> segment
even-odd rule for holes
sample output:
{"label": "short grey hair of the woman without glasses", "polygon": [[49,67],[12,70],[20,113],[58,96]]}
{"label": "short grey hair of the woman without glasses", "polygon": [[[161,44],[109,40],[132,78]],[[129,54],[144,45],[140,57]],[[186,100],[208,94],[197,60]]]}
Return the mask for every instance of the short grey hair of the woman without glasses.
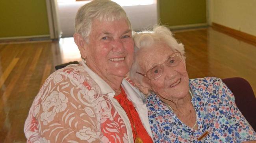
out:
{"label": "short grey hair of the woman without glasses", "polygon": [[130,21],[122,7],[111,0],[93,0],[83,5],[76,13],[75,32],[82,35],[88,43],[87,37],[91,32],[91,25],[94,19],[113,22],[124,18],[132,29]]}

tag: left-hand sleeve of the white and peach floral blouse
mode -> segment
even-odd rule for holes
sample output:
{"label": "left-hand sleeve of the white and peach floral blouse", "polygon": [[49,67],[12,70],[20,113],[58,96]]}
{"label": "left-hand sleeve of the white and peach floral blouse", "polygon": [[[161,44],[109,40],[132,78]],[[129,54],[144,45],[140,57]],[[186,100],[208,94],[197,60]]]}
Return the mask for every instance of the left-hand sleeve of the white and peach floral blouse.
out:
{"label": "left-hand sleeve of the white and peach floral blouse", "polygon": [[46,80],[25,123],[28,142],[101,142],[95,91],[86,88],[83,79],[79,74],[65,73]]}

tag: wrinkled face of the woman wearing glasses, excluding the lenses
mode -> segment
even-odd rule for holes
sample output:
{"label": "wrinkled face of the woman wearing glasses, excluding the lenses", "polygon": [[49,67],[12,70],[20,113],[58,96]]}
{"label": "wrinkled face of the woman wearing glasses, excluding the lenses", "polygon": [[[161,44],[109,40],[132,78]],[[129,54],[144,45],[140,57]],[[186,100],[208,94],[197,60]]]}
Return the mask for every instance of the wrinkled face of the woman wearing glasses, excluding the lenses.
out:
{"label": "wrinkled face of the woman wearing glasses, excluding the lenses", "polygon": [[[165,43],[156,43],[149,48],[143,48],[138,53],[141,72],[146,73],[152,67],[163,64],[173,54],[174,50]],[[188,93],[189,78],[186,71],[186,64],[182,60],[176,67],[168,67],[163,64],[163,74],[156,80],[143,78],[143,87],[154,91],[161,99],[178,100],[186,97]]]}

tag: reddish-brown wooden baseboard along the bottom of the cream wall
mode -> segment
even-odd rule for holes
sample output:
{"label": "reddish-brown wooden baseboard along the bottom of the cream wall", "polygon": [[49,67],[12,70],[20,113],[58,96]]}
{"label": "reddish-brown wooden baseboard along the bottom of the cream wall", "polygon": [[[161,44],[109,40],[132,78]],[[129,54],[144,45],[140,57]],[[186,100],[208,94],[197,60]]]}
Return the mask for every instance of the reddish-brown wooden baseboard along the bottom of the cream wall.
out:
{"label": "reddish-brown wooden baseboard along the bottom of the cream wall", "polygon": [[217,29],[220,32],[229,34],[230,36],[233,36],[234,38],[239,38],[239,40],[243,40],[245,42],[252,42],[252,43],[256,43],[256,36],[253,36],[251,34],[247,34],[244,33],[242,31],[238,31],[220,24],[216,24],[214,22],[212,22],[211,27],[213,27],[213,29]]}

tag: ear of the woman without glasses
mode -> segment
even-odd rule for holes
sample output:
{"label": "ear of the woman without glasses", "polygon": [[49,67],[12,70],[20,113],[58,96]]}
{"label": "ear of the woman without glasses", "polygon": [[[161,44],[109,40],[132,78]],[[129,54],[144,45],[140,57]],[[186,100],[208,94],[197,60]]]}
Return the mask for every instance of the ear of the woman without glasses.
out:
{"label": "ear of the woman without glasses", "polygon": [[85,42],[85,40],[83,39],[82,35],[79,34],[79,33],[75,33],[73,35],[74,37],[74,42],[76,43],[79,51],[80,51],[80,54],[81,54],[81,57],[86,59],[86,50],[85,48],[87,47],[87,43]]}

